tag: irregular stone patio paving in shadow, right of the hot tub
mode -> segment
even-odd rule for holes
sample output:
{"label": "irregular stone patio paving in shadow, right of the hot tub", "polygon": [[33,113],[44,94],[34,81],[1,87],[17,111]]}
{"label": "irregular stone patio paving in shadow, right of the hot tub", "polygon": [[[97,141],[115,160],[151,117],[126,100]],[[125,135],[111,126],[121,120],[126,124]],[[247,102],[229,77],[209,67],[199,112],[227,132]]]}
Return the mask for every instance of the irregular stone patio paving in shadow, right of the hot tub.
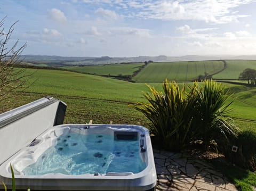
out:
{"label": "irregular stone patio paving in shadow, right of the hot tub", "polygon": [[171,153],[154,149],[157,191],[228,191],[237,190],[227,178],[203,160],[186,153]]}

